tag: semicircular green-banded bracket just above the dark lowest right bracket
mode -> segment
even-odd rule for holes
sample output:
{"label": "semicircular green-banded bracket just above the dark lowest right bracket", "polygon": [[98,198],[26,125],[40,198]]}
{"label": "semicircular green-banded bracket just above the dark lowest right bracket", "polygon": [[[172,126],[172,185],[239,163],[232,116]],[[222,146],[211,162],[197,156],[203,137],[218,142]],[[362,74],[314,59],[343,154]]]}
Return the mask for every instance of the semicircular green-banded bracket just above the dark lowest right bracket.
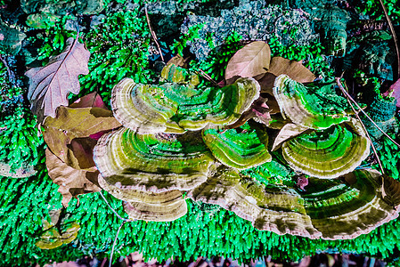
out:
{"label": "semicircular green-banded bracket just above the dark lowest right bracket", "polygon": [[370,154],[362,125],[352,119],[325,130],[314,130],[282,143],[283,158],[297,171],[318,178],[350,173]]}

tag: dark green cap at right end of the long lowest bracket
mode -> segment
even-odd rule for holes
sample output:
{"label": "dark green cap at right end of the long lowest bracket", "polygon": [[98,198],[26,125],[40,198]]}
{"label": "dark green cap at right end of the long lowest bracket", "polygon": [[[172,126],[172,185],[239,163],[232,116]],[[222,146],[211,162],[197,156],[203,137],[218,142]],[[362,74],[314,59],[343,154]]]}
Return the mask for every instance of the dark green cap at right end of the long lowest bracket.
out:
{"label": "dark green cap at right end of the long lowest bracket", "polygon": [[382,195],[378,171],[355,170],[344,178],[346,183],[309,179],[306,192],[300,193],[324,239],[355,239],[397,217],[398,206],[389,205]]}

